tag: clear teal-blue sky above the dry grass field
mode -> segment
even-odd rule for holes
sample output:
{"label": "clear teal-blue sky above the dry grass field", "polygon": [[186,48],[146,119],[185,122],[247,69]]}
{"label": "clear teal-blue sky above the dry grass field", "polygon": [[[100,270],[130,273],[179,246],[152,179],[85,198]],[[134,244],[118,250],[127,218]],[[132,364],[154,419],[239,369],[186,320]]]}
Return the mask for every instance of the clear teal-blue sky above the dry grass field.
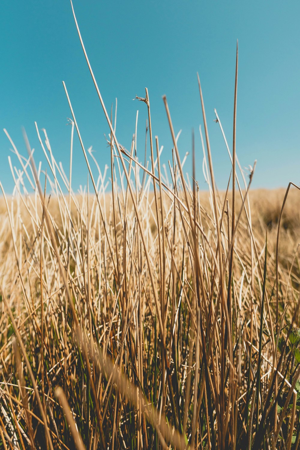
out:
{"label": "clear teal-blue sky above the dry grass field", "polygon": [[[195,129],[197,179],[205,189],[199,125],[203,124],[197,71],[201,78],[217,185],[224,189],[228,154],[213,121],[214,108],[232,147],[236,40],[239,41],[237,155],[242,166],[257,159],[254,187],[300,183],[300,4],[296,1],[74,0],[85,48],[108,110],[118,99],[116,135],[130,148],[139,109],[138,155],[143,160],[147,108],[133,101],[148,87],[153,135],[171,157],[172,140],[161,96],[166,94],[179,152],[191,150]],[[86,148],[104,169],[109,129],[92,83],[68,0],[1,3],[0,14],[0,180],[13,188],[8,155],[18,167],[6,128],[27,155],[24,126],[35,159],[43,161],[34,121],[47,130],[54,156],[69,164],[71,117],[64,80]],[[191,153],[190,153],[191,155]],[[186,171],[191,172],[191,158]],[[73,187],[86,184],[78,139],[74,141]]]}

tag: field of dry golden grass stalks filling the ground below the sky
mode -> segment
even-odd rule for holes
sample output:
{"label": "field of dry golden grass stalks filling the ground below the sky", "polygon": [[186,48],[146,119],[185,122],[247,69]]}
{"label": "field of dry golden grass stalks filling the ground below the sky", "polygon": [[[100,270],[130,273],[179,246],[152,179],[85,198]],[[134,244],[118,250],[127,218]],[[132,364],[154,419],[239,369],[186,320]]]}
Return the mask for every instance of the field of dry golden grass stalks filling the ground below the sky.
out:
{"label": "field of dry golden grass stalks filling the ground below the sky", "polygon": [[110,191],[100,170],[84,195],[72,191],[80,132],[67,96],[70,180],[45,135],[51,198],[20,158],[1,200],[0,448],[298,448],[299,190],[282,210],[285,189],[249,191],[255,173],[244,183],[237,160],[242,188],[218,193],[206,135],[209,192],[199,192],[164,98],[168,183],[148,91],[145,168],[135,138],[130,154],[119,146],[94,83],[111,130]]}

